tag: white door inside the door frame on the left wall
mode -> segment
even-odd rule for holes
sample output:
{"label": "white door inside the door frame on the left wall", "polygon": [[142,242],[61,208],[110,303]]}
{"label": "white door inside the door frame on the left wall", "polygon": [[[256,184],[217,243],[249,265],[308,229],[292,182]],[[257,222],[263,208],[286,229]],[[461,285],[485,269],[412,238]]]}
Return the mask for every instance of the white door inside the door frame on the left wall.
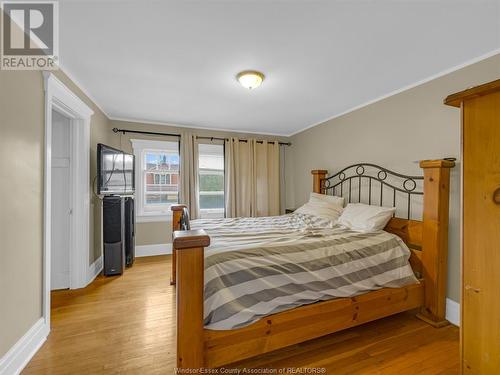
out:
{"label": "white door inside the door frame on the left wall", "polygon": [[71,121],[52,111],[51,290],[70,287]]}

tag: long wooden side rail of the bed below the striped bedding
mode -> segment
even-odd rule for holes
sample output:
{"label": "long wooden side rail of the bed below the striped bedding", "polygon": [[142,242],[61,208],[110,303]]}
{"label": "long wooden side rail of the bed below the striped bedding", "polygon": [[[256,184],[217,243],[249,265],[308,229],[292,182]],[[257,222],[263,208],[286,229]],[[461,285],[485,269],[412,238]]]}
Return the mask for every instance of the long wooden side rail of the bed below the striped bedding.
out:
{"label": "long wooden side rail of the bed below the striped bedding", "polygon": [[381,289],[271,315],[244,328],[204,330],[205,366],[219,367],[422,306],[423,284]]}

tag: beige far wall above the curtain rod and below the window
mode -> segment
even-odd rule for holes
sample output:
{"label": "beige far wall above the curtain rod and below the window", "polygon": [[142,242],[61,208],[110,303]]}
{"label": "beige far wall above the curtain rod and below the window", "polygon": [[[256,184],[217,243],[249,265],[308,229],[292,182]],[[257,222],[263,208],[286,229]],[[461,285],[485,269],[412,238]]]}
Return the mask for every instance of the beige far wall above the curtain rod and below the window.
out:
{"label": "beige far wall above the curtain rod and below the window", "polygon": [[[190,131],[199,136],[207,137],[239,137],[239,138],[257,138],[257,139],[279,139],[284,142],[288,142],[286,137],[275,137],[268,135],[258,135],[258,134],[246,134],[246,133],[235,133],[235,132],[222,132],[222,131],[210,131],[205,129],[192,129],[192,128],[180,128],[174,125],[152,125],[136,122],[125,122],[125,121],[110,121],[109,129],[112,128],[119,129],[133,129],[151,132],[161,132],[161,133],[173,133],[179,134],[182,132]],[[115,138],[112,140],[110,146],[117,147],[125,152],[132,153],[131,139],[151,139],[151,140],[164,140],[168,139],[163,136],[147,136],[142,134],[130,134],[125,135],[119,133],[115,134]],[[174,138],[175,139],[175,138]],[[153,222],[153,223],[138,223],[136,230],[136,244],[141,245],[155,245],[155,244],[165,244],[172,242],[172,224],[170,222]]]}

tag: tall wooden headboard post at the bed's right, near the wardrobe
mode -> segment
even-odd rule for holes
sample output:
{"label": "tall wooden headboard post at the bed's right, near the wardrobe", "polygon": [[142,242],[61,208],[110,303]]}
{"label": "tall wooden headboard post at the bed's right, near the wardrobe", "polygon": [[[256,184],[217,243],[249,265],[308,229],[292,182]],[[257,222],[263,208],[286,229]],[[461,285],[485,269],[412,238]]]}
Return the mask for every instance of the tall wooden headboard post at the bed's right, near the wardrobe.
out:
{"label": "tall wooden headboard post at the bed's right, near the wardrobe", "polygon": [[446,280],[448,271],[448,207],[451,160],[422,160],[424,170],[424,212],[422,266],[425,286],[420,319],[441,327],[446,321]]}

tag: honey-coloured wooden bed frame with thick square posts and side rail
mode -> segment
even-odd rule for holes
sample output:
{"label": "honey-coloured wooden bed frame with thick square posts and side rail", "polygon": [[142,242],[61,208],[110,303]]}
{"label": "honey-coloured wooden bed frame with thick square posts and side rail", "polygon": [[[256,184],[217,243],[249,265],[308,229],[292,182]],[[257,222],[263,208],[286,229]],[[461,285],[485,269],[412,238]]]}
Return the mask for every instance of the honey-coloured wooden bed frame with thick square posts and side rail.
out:
{"label": "honey-coloured wooden bed frame with thick square posts and side rail", "polygon": [[[204,248],[210,245],[210,237],[203,230],[189,230],[186,206],[173,206],[178,368],[227,365],[416,308],[417,316],[427,323],[446,325],[448,201],[450,168],[454,165],[447,160],[421,161],[423,220],[392,218],[385,228],[400,236],[412,251],[410,263],[415,274],[421,275],[419,284],[305,305],[234,330],[203,326]],[[327,171],[314,170],[312,176],[313,191],[325,193]]]}

